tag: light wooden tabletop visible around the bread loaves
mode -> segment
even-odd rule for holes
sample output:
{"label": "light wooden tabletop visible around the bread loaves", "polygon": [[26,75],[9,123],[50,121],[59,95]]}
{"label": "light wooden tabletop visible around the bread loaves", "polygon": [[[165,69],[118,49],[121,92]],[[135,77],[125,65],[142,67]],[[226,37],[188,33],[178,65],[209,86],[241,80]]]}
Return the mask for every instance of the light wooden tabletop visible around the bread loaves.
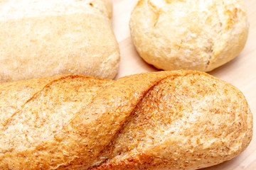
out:
{"label": "light wooden tabletop visible around the bread loaves", "polygon": [[[256,0],[244,0],[250,21],[250,33],[244,50],[235,60],[209,72],[215,77],[228,81],[240,89],[250,105],[256,118]],[[140,72],[157,71],[154,67],[146,64],[132,44],[129,33],[129,17],[136,0],[113,0],[112,26],[114,34],[119,42],[121,53],[121,64],[116,79],[129,74]],[[212,166],[204,170],[255,170],[256,169],[256,125],[254,126],[254,137],[249,147],[238,157]]]}

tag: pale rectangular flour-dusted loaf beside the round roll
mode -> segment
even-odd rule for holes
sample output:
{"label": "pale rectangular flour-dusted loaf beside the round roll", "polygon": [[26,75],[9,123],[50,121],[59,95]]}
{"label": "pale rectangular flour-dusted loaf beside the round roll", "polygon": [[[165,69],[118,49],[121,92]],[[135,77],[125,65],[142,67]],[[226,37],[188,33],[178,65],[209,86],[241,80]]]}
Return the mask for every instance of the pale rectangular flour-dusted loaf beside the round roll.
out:
{"label": "pale rectangular flour-dusted loaf beside the round roll", "polygon": [[113,79],[119,47],[109,0],[0,2],[0,82],[57,74]]}

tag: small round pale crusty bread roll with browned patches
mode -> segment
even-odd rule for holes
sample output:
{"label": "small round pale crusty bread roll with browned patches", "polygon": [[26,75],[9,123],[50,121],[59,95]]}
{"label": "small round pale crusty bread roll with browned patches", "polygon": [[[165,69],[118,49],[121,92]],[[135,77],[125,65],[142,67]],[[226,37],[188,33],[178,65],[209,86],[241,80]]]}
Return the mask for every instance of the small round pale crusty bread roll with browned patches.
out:
{"label": "small round pale crusty bread roll with browned patches", "polygon": [[238,56],[249,27],[242,0],[139,0],[129,24],[134,45],[149,64],[203,72]]}

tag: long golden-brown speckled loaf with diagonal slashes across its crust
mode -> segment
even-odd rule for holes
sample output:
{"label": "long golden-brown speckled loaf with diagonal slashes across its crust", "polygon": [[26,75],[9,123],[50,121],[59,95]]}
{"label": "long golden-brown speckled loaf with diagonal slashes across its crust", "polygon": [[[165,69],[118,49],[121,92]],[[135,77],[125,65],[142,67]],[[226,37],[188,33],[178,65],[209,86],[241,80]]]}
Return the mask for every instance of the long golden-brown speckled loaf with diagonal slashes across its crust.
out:
{"label": "long golden-brown speckled loaf with diagonal slashes across its crust", "polygon": [[242,93],[203,72],[0,84],[0,169],[199,169],[252,139]]}

